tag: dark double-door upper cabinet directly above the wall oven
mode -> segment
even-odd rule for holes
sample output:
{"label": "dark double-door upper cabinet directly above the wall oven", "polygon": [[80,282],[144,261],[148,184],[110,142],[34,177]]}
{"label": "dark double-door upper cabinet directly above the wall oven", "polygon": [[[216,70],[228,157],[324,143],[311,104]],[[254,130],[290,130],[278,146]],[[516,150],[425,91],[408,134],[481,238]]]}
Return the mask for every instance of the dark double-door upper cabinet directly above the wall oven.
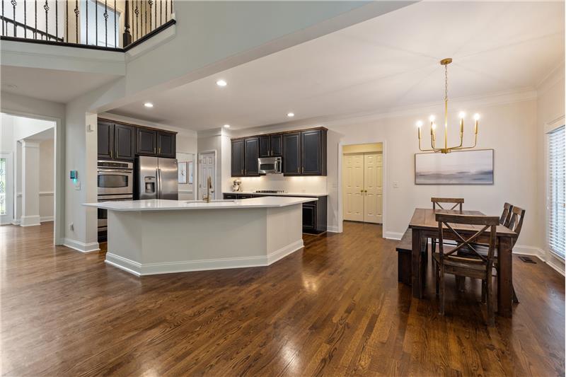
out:
{"label": "dark double-door upper cabinet directly above the wall oven", "polygon": [[135,129],[125,124],[98,122],[98,158],[133,160]]}

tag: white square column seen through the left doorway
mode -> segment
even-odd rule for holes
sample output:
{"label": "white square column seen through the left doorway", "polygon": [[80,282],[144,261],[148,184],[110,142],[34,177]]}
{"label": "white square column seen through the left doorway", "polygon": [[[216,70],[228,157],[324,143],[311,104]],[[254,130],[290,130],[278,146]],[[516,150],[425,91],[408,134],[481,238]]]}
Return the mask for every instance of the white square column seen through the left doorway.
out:
{"label": "white square column seen through the left doorway", "polygon": [[40,225],[40,144],[22,141],[21,226]]}

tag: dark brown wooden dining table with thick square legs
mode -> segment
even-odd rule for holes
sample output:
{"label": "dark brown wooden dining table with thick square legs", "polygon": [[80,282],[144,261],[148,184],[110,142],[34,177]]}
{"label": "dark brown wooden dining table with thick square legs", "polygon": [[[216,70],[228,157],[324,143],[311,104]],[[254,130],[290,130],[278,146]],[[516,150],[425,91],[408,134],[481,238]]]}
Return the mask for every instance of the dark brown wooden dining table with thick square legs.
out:
{"label": "dark brown wooden dining table with thick square legs", "polygon": [[[483,215],[480,211],[458,211],[446,209],[424,209],[416,208],[412,214],[409,228],[412,231],[412,296],[422,298],[424,288],[424,272],[422,265],[422,240],[426,238],[439,238],[438,222],[435,219],[437,213],[443,214],[466,214]],[[454,230],[461,236],[472,236],[479,231],[482,226],[451,224]],[[458,237],[450,232],[443,232],[445,240],[459,240]],[[512,316],[512,292],[513,292],[513,264],[512,264],[512,245],[517,235],[506,226],[497,226],[496,247],[497,247],[497,314],[503,317]],[[489,233],[484,232],[478,239],[478,243],[488,243]],[[424,254],[426,255],[426,254]]]}

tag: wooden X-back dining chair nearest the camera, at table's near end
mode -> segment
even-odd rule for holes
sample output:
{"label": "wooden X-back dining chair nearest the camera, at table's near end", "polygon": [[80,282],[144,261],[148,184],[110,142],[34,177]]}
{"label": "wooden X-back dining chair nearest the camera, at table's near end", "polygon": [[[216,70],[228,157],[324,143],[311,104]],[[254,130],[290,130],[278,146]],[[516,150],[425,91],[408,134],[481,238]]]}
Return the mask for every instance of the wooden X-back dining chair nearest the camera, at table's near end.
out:
{"label": "wooden X-back dining chair nearest the camera, at table's near end", "polygon": [[[493,282],[492,269],[495,262],[495,236],[499,217],[497,216],[477,216],[463,214],[436,214],[439,231],[439,253],[434,253],[432,257],[436,262],[437,294],[439,294],[440,308],[439,313],[444,315],[444,274],[454,274],[456,277],[471,277],[482,280],[482,301],[487,301],[487,324],[493,325],[495,322],[495,311],[493,302]],[[456,228],[464,225],[481,226],[471,236],[461,230],[454,229],[451,224],[457,224]],[[444,234],[452,233],[458,240],[458,245],[449,246],[445,252]],[[478,242],[478,238],[488,236],[488,243]],[[487,255],[478,253],[475,245],[487,245]],[[466,256],[458,255],[462,248],[468,248],[470,254]]]}

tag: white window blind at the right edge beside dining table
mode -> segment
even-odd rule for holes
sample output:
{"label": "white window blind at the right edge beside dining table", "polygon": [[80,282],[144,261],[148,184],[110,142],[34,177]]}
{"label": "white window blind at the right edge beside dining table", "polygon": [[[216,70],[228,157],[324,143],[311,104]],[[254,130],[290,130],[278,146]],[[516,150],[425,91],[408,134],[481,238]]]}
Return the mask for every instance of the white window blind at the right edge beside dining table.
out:
{"label": "white window blind at the right edge beside dining table", "polygon": [[566,253],[565,144],[564,126],[548,133],[548,246],[562,259]]}

